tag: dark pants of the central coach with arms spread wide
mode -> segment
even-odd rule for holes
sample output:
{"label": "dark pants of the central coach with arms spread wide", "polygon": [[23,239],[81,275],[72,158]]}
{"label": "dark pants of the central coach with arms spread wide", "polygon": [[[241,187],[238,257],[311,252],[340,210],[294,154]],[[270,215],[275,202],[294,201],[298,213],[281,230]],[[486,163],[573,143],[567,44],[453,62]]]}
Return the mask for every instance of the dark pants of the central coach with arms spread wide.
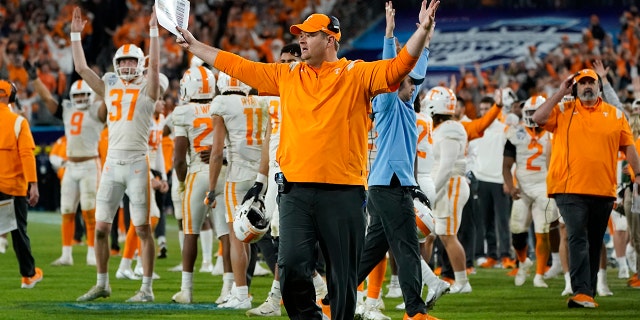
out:
{"label": "dark pants of the central coach with arms spread wide", "polygon": [[318,242],[327,263],[331,318],[353,319],[366,228],[364,187],[291,183],[279,197],[278,268],[289,318],[322,319],[312,279]]}

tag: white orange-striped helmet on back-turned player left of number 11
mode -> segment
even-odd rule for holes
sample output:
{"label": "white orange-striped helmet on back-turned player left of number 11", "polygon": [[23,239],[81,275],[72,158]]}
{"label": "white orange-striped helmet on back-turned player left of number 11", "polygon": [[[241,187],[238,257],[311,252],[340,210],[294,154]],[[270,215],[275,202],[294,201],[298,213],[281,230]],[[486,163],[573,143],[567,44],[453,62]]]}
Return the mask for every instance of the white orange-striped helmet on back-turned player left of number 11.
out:
{"label": "white orange-striped helmet on back-turned player left of number 11", "polygon": [[216,78],[211,70],[199,66],[185,71],[180,80],[180,100],[211,100],[215,95]]}

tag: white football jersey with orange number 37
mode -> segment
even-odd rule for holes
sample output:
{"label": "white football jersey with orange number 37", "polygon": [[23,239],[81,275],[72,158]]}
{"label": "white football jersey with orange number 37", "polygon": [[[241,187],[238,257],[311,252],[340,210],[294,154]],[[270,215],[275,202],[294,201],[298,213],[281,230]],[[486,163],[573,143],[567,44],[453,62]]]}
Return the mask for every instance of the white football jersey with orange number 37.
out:
{"label": "white football jersey with orange number 37", "polygon": [[125,83],[113,72],[106,73],[102,79],[108,112],[109,150],[146,154],[150,119],[155,110],[155,101],[147,95],[146,79],[140,77],[135,82]]}

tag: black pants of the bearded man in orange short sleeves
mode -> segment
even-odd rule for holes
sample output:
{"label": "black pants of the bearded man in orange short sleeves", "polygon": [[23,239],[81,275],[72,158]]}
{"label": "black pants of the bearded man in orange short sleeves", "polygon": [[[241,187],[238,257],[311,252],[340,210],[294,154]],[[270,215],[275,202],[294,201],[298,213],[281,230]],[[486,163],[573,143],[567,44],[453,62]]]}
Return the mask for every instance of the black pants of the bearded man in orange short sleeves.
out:
{"label": "black pants of the bearded man in orange short sleeves", "polygon": [[595,297],[602,237],[614,199],[578,194],[556,194],[555,199],[567,227],[573,293]]}

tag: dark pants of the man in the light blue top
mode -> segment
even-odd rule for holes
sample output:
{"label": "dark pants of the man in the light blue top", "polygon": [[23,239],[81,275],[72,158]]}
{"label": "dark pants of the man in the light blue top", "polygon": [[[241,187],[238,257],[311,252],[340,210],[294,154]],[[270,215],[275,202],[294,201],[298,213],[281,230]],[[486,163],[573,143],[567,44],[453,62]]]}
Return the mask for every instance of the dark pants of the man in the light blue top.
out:
{"label": "dark pants of the man in the light blue top", "polygon": [[358,269],[358,283],[364,281],[391,247],[398,266],[398,279],[407,314],[426,314],[427,307],[420,295],[422,258],[416,234],[416,214],[409,189],[400,186],[370,186],[367,211],[369,226]]}

